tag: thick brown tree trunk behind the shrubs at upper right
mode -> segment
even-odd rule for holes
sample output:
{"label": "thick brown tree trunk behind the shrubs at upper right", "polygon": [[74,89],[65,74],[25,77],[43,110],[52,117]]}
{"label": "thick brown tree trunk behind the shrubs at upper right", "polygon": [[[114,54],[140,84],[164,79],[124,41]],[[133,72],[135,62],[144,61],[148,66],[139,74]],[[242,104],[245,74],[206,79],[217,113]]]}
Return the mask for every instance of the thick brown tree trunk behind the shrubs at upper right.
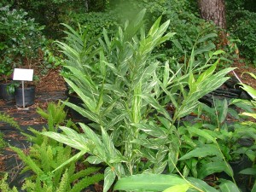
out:
{"label": "thick brown tree trunk behind the shrubs at upper right", "polygon": [[212,20],[216,26],[226,29],[224,0],[199,0],[201,18]]}

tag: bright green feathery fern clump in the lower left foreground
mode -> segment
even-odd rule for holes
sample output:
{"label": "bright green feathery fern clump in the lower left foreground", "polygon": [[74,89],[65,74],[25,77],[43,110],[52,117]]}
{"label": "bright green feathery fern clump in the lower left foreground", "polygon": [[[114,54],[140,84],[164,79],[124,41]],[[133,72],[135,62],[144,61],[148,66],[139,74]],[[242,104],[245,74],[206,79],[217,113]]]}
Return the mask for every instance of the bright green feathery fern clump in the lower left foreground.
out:
{"label": "bright green feathery fern clump in the lower left foreground", "polygon": [[[44,137],[41,135],[41,137]],[[73,152],[69,146],[61,143],[50,143],[49,137],[44,137],[40,145],[33,144],[29,154],[24,154],[20,148],[10,147],[26,165],[20,173],[32,171],[31,177],[26,177],[23,189],[27,191],[81,191],[90,184],[103,179],[103,174],[97,173],[99,167],[88,167],[76,172],[75,163],[67,165]],[[65,163],[66,166],[58,166]],[[58,168],[58,169],[57,169]]]}

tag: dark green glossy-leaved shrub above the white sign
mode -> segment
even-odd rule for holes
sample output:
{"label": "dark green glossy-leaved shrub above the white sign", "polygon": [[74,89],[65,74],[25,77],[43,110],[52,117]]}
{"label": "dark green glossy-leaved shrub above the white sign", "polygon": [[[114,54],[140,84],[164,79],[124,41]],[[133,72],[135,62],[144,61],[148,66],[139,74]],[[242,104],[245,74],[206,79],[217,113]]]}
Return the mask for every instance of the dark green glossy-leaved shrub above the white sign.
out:
{"label": "dark green glossy-leaved shrub above the white sign", "polygon": [[[0,61],[6,68],[32,66],[32,60],[38,58],[38,51],[44,45],[41,31],[44,26],[38,26],[22,9],[10,9],[5,6],[0,9]],[[3,73],[7,73],[6,71]]]}

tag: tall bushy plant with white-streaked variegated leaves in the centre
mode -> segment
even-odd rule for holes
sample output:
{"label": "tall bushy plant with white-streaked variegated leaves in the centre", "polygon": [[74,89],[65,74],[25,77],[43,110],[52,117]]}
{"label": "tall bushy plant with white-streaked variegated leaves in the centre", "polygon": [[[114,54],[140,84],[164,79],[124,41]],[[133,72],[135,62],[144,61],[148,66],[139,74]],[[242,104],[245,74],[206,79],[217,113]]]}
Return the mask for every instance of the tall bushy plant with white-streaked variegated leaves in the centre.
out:
{"label": "tall bushy plant with white-streaked variegated leaves in the centre", "polygon": [[[63,133],[46,132],[44,135],[79,149],[79,154],[65,164],[85,153],[90,154],[86,160],[92,164],[106,163],[103,191],[108,191],[116,177],[161,173],[167,165],[172,172],[181,143],[174,126],[176,119],[192,112],[198,99],[220,86],[227,79],[225,74],[232,70],[214,73],[217,65],[214,64],[199,77],[195,78],[191,70],[183,78],[177,76],[178,72],[172,72],[166,62],[164,78],[160,79],[157,75],[160,63],[152,58],[152,50],[173,33],[166,33],[169,21],[160,25],[159,18],[146,34],[144,15],[143,9],[136,20],[119,27],[113,38],[103,31],[102,49],[96,48],[96,52],[91,53],[94,60],[84,62],[81,59],[89,58],[85,45],[73,49],[83,38],[78,33],[73,35],[72,30],[67,44],[58,43],[67,55],[66,67],[71,74],[65,80],[84,106],[65,103],[94,123],[90,127],[79,124],[83,134],[61,127]],[[76,65],[82,66],[84,71]],[[189,79],[189,83],[184,79]],[[189,90],[185,90],[187,85]],[[163,92],[167,101],[174,103],[174,116],[160,104]],[[177,94],[183,96],[180,101],[177,101]]]}

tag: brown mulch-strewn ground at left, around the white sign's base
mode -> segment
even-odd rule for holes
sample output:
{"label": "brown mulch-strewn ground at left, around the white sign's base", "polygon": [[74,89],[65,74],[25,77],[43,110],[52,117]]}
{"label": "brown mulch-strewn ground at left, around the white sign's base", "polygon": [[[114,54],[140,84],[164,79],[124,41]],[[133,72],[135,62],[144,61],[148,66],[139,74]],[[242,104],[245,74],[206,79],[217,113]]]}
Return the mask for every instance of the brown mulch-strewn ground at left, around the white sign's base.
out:
{"label": "brown mulch-strewn ground at left, around the white sign's base", "polygon": [[[46,125],[46,120],[37,113],[37,108],[46,109],[49,102],[66,100],[65,90],[66,86],[60,76],[60,70],[57,68],[49,70],[36,84],[35,103],[28,110],[17,108],[15,101],[0,99],[0,112],[13,117],[24,132],[27,132],[27,128],[30,126],[36,130],[41,130]],[[4,140],[11,146],[26,150],[31,145],[26,141],[26,137],[20,134],[19,130],[1,121],[0,131],[4,135]],[[0,172],[9,172],[11,177],[17,177],[13,173],[18,172],[21,168],[17,155],[9,147],[4,148],[3,153],[0,154]]]}

